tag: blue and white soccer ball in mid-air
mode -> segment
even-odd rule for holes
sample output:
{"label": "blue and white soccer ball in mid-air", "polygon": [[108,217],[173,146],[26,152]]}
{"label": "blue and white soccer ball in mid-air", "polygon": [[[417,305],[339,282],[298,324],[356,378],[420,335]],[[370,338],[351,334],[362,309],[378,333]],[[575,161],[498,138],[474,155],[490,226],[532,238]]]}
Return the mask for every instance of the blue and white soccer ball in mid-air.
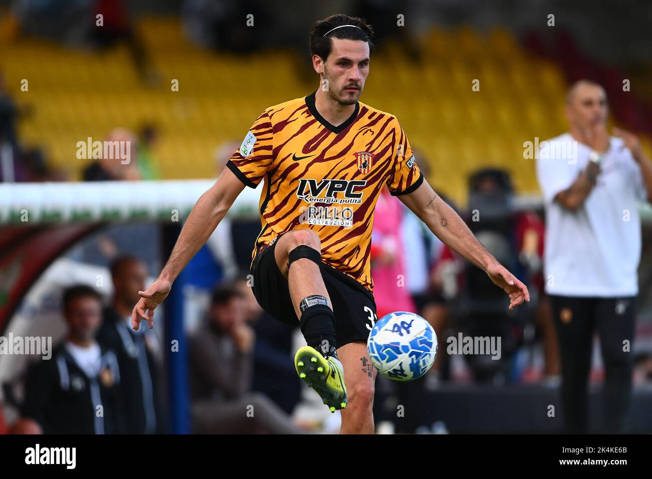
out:
{"label": "blue and white soccer ball in mid-air", "polygon": [[395,381],[412,381],[435,362],[437,335],[428,321],[415,313],[389,313],[371,330],[367,351],[379,373]]}

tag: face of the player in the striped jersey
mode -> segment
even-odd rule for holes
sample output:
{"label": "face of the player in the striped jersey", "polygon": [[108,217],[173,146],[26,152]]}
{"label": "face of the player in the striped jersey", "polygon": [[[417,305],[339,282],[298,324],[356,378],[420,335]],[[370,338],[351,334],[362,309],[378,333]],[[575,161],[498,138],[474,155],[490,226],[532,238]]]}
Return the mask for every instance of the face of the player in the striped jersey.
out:
{"label": "face of the player in the striped jersey", "polygon": [[323,65],[323,79],[336,102],[352,105],[363,93],[369,74],[369,44],[360,40],[331,39],[331,54]]}

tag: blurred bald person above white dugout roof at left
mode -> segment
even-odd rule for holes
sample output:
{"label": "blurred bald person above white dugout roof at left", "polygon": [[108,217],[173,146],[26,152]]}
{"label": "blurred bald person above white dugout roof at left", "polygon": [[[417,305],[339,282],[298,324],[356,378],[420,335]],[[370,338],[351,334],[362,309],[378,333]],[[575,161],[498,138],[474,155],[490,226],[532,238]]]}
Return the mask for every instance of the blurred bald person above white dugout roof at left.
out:
{"label": "blurred bald person above white dugout roof at left", "polygon": [[[118,181],[118,180],[140,180],[140,171],[138,169],[138,157],[136,156],[136,145],[138,138],[125,128],[116,128],[113,130],[106,141],[111,143],[118,141],[117,151],[128,152],[128,163],[123,164],[121,158],[96,158],[89,166],[85,167],[82,173],[83,181]],[[123,143],[126,146],[123,147]],[[114,151],[111,149],[111,151]],[[104,148],[102,149],[104,153]],[[89,156],[93,154],[92,151],[87,152]],[[107,155],[115,156],[115,155]],[[126,160],[124,160],[126,161]]]}

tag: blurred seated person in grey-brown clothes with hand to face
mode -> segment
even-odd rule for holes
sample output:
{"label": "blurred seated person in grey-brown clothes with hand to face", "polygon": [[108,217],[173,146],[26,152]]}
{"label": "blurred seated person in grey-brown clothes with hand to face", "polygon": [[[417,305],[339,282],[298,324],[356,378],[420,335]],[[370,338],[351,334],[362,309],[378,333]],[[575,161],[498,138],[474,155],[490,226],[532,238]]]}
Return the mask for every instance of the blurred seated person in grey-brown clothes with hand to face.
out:
{"label": "blurred seated person in grey-brown clothes with hand to face", "polygon": [[220,285],[207,319],[190,336],[193,432],[301,433],[273,401],[251,391],[256,337],[246,310],[234,285]]}

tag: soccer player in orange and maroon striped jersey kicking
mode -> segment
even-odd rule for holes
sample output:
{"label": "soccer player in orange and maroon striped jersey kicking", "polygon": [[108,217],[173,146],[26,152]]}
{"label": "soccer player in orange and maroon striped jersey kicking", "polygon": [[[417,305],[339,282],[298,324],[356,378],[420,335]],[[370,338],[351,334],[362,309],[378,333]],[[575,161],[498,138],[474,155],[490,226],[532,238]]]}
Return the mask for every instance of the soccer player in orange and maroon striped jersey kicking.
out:
{"label": "soccer player in orange and maroon striped jersey kicking", "polygon": [[307,346],[295,356],[297,373],[331,411],[342,409],[342,433],[374,432],[376,371],[368,368],[366,340],[378,320],[369,256],[382,188],[484,269],[509,295],[510,309],[529,300],[526,286],[424,180],[396,117],[358,101],[372,36],[360,18],[340,14],[314,23],[310,48],[319,89],[260,115],[197,201],[168,263],[140,292],[132,313],[134,328],[141,319],[153,327],[154,309],[244,186],[264,181],[252,289],[276,319],[299,321]]}

